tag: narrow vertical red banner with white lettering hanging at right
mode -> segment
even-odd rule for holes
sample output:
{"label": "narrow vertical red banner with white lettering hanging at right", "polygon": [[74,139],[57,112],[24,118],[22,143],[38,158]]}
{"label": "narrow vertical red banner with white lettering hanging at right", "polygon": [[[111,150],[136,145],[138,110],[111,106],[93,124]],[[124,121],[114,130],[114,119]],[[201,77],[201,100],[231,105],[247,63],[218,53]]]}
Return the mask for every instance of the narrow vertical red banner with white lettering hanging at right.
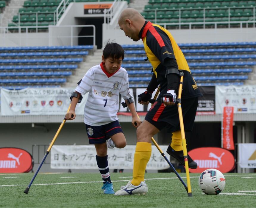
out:
{"label": "narrow vertical red banner with white lettering hanging at right", "polygon": [[233,117],[234,107],[226,106],[223,108],[223,148],[234,150],[233,140]]}

